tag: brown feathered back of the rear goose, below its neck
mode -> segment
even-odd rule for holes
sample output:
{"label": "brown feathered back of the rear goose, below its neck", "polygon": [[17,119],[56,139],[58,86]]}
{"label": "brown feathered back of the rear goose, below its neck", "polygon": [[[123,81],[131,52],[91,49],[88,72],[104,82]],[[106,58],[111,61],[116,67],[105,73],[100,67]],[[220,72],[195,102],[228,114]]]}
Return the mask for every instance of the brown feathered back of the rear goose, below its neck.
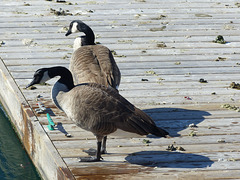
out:
{"label": "brown feathered back of the rear goose, below its neck", "polygon": [[74,51],[70,71],[75,84],[97,83],[117,88],[121,74],[110,50],[102,45],[87,45]]}

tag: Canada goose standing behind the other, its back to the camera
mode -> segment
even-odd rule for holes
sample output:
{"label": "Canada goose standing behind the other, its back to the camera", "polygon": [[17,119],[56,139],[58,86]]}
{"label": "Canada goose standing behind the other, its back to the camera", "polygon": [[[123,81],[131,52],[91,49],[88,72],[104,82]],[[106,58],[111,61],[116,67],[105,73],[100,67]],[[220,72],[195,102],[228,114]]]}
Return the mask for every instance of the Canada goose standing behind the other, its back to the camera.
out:
{"label": "Canada goose standing behind the other, its back to the camera", "polygon": [[92,29],[80,20],[70,23],[66,36],[76,32],[83,32],[85,36],[76,38],[76,50],[70,60],[69,69],[75,84],[92,82],[117,89],[121,73],[111,51],[103,45],[95,44]]}

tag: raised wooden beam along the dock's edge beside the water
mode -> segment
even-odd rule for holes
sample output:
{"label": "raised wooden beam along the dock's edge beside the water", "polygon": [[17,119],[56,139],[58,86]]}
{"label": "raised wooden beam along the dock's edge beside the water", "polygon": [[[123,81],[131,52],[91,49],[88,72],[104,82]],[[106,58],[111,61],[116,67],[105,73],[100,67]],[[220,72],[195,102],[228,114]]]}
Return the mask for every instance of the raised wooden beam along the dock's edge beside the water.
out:
{"label": "raised wooden beam along the dock's edge beside the water", "polygon": [[0,101],[41,177],[46,180],[75,179],[1,58]]}

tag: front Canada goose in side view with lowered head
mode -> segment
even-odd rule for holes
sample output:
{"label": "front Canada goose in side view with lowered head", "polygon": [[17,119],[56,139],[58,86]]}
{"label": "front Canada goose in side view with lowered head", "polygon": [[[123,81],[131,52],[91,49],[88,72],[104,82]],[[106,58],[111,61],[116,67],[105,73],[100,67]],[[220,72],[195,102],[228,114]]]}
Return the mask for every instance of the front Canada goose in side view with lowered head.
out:
{"label": "front Canada goose in side view with lowered head", "polygon": [[72,74],[65,67],[38,69],[27,87],[46,82],[55,76],[60,76],[60,79],[52,88],[53,102],[77,126],[91,131],[97,139],[96,156],[80,158],[80,161],[100,161],[103,137],[117,129],[139,135],[168,135],[168,132],[158,128],[147,114],[128,102],[112,87],[96,83],[74,86]]}

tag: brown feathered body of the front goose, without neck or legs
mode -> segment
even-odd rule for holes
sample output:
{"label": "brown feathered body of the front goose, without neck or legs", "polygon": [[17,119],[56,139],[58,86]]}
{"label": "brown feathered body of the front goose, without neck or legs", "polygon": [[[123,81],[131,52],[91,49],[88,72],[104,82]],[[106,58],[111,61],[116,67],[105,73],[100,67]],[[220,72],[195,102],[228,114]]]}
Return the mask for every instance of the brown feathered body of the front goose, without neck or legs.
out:
{"label": "brown feathered body of the front goose, without neck or legs", "polygon": [[96,136],[105,136],[117,129],[139,135],[165,137],[168,134],[112,88],[81,84],[58,96],[58,103],[67,116]]}

